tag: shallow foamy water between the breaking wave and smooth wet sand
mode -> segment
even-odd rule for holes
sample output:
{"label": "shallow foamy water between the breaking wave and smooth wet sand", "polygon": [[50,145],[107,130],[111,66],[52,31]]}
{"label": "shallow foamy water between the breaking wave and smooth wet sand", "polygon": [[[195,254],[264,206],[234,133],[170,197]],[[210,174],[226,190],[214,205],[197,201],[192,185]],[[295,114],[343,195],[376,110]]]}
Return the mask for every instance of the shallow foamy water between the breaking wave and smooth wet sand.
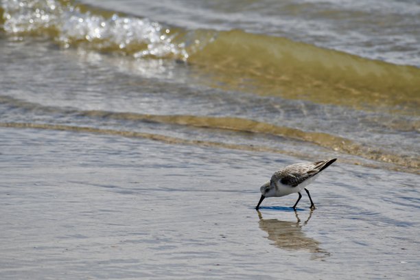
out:
{"label": "shallow foamy water between the breaking wave and smooth wet sand", "polygon": [[194,67],[61,50],[42,38],[1,44],[1,126],[111,128],[418,172],[417,116],[226,91],[200,83]]}

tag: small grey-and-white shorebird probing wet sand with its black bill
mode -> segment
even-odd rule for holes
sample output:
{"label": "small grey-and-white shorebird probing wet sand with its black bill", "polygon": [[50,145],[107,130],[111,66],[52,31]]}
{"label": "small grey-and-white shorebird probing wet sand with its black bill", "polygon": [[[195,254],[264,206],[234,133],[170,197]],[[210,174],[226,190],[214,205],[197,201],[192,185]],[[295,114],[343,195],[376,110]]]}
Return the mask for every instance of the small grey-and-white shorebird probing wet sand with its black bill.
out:
{"label": "small grey-and-white shorebird probing wet sand with its black bill", "polygon": [[289,194],[298,193],[299,198],[293,205],[296,210],[296,205],[302,198],[301,191],[305,189],[307,196],[311,201],[311,209],[315,209],[310,192],[305,188],[312,183],[320,174],[321,171],[329,167],[337,159],[326,159],[325,161],[316,161],[314,163],[295,163],[288,165],[283,169],[272,174],[270,181],[260,187],[261,198],[259,199],[257,207],[264,200],[264,198],[288,196]]}

